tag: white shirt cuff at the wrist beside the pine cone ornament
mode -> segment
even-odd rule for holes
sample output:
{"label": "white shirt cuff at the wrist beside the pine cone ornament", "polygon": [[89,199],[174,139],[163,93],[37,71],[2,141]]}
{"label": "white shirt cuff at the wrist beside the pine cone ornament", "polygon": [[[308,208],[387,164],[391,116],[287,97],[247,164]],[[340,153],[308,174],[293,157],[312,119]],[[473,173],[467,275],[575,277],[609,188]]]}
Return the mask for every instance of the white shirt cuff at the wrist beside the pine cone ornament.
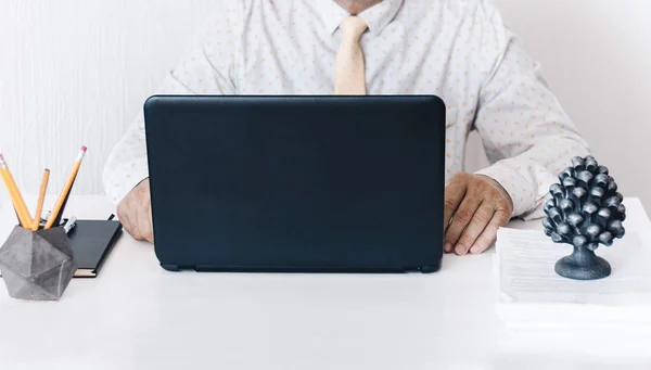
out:
{"label": "white shirt cuff at the wrist beside the pine cone ornament", "polygon": [[[538,168],[536,168],[538,167]],[[542,204],[549,187],[554,181],[550,174],[539,166],[505,160],[475,173],[497,181],[511,196],[511,217],[535,219],[544,216]]]}

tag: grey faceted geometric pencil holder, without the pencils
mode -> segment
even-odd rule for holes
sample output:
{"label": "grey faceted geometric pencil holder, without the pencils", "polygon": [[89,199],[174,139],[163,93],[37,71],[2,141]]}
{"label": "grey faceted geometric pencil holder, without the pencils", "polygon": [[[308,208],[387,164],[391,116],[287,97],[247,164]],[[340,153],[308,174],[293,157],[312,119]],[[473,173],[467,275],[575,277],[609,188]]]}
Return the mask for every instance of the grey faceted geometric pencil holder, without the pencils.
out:
{"label": "grey faceted geometric pencil holder, without the pencils", "polygon": [[0,248],[0,271],[14,298],[59,301],[76,270],[62,227],[31,231],[16,226]]}

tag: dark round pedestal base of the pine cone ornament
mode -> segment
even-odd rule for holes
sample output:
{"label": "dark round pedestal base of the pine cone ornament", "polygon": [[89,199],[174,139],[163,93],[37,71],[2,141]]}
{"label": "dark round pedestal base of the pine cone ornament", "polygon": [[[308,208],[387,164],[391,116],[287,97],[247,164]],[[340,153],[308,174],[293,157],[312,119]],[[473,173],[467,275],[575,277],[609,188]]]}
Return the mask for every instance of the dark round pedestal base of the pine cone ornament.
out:
{"label": "dark round pedestal base of the pine cone ornament", "polygon": [[593,251],[574,247],[574,252],[559,259],[554,270],[563,278],[573,280],[597,280],[611,275],[608,260],[597,256]]}

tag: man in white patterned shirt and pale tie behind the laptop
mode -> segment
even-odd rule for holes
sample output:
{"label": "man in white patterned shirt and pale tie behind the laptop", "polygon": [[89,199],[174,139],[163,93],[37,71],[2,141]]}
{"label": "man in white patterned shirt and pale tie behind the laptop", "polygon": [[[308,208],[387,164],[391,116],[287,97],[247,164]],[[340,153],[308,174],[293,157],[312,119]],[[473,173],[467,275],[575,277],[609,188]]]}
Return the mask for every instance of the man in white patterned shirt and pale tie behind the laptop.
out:
{"label": "man in white patterned shirt and pale tie behind the laptop", "polygon": [[[436,94],[447,105],[446,253],[540,215],[588,146],[488,0],[222,0],[161,93]],[[462,173],[476,129],[492,162]],[[142,116],[104,173],[125,229],[153,242]]]}

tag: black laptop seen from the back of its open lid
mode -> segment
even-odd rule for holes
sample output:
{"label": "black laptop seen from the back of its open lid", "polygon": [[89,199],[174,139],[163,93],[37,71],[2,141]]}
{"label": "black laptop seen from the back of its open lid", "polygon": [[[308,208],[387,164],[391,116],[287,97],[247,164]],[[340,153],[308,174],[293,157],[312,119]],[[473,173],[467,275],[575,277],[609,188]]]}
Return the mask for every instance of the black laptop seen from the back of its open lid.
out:
{"label": "black laptop seen from the back of its open lid", "polygon": [[437,271],[445,112],[433,95],[151,97],[161,266]]}

